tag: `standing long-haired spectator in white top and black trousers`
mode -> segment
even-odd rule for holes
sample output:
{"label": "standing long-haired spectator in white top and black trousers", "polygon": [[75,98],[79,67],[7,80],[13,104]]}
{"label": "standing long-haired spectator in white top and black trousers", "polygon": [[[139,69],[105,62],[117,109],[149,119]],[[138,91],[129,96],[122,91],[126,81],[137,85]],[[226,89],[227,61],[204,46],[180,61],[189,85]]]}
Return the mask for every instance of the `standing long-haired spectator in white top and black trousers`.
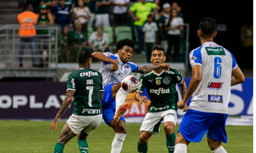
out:
{"label": "standing long-haired spectator in white top and black trousers", "polygon": [[[183,19],[177,16],[176,9],[172,9],[171,16],[165,24],[169,44],[167,59],[169,59],[171,62],[179,62],[180,36],[181,30],[183,30],[183,24]],[[174,54],[170,57],[172,46],[174,46]]]}

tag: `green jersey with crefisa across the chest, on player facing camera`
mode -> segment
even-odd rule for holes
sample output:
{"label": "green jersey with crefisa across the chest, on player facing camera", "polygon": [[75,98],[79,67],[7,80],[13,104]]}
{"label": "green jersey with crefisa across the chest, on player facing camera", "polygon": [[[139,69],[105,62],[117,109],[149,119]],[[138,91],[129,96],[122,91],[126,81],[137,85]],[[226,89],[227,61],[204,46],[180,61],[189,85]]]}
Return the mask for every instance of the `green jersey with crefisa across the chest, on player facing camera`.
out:
{"label": "green jersey with crefisa across the chest, on player facing camera", "polygon": [[138,92],[143,92],[146,87],[147,94],[150,97],[150,105],[147,113],[155,113],[174,109],[177,111],[177,102],[179,101],[176,83],[181,84],[183,78],[179,71],[170,68],[170,71],[164,70],[157,74],[151,71],[140,76]]}

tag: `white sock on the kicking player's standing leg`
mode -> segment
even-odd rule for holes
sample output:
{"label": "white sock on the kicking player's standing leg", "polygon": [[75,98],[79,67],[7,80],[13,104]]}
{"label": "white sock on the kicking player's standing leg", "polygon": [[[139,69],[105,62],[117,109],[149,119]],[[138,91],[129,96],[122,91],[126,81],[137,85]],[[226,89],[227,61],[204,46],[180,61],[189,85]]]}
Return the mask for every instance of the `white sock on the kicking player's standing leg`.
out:
{"label": "white sock on the kicking player's standing leg", "polygon": [[116,133],[112,142],[111,153],[120,153],[125,140],[126,134]]}

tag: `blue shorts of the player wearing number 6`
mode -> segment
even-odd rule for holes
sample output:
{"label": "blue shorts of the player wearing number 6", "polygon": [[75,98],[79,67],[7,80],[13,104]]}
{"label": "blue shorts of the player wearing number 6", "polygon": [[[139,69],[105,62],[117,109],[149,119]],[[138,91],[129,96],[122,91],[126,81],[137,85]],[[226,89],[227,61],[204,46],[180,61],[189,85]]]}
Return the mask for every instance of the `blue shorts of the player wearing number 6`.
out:
{"label": "blue shorts of the player wearing number 6", "polygon": [[228,115],[206,113],[188,109],[184,115],[179,132],[190,142],[200,142],[207,131],[207,137],[227,143],[225,123]]}

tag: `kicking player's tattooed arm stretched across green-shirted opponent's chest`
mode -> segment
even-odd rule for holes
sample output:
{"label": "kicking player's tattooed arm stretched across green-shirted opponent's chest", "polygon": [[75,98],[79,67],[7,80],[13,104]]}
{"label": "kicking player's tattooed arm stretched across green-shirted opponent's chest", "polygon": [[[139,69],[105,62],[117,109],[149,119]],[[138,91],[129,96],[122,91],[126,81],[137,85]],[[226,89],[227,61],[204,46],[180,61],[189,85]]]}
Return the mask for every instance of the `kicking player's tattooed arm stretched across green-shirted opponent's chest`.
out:
{"label": "kicking player's tattooed arm stretched across green-shirted opponent's chest", "polygon": [[169,70],[170,67],[171,67],[171,65],[166,64],[166,63],[159,64],[159,65],[153,65],[153,66],[142,65],[142,66],[139,66],[139,70],[137,71],[137,73],[144,74],[144,73],[148,73],[148,72],[151,72],[153,70],[158,70],[158,69],[163,69],[165,71],[170,71]]}

